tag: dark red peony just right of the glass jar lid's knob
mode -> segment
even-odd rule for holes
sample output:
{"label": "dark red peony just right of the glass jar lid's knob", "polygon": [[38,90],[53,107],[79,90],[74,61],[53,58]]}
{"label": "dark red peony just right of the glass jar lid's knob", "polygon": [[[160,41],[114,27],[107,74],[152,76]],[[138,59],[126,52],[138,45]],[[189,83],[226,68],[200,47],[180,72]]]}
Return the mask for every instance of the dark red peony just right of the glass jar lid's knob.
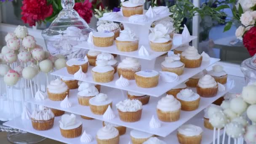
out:
{"label": "dark red peony just right of the glass jar lid's knob", "polygon": [[91,17],[93,16],[93,11],[91,10],[92,4],[89,0],[85,0],[84,2],[75,3],[74,9],[77,13],[89,24],[91,21]]}

